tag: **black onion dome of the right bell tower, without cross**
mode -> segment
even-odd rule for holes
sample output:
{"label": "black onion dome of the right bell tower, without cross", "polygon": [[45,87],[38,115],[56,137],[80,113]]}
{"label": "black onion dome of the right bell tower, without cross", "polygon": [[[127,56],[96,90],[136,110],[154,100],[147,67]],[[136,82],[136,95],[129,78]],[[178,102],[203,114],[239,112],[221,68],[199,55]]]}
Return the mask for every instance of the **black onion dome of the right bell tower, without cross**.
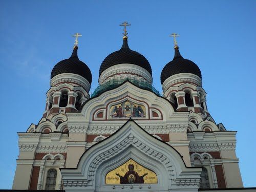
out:
{"label": "black onion dome of the right bell tower, without cross", "polygon": [[202,79],[201,71],[195,62],[188,59],[184,59],[180,55],[178,46],[175,47],[174,59],[167,63],[163,68],[161,73],[161,83],[170,76],[179,74],[179,73],[192,73],[199,76]]}

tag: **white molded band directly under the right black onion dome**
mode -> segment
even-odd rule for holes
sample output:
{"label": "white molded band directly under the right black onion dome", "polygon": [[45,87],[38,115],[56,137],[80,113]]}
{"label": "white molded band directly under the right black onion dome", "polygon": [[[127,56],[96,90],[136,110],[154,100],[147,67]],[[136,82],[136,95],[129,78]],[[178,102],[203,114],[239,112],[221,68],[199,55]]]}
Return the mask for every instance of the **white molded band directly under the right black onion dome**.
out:
{"label": "white molded band directly under the right black onion dome", "polygon": [[[176,83],[184,83],[184,82],[191,82],[195,83],[197,86],[202,86],[202,80],[197,75],[191,73],[179,73],[168,77],[162,84],[162,89],[164,95],[170,92],[170,87],[172,87]],[[167,96],[167,95],[166,95]]]}

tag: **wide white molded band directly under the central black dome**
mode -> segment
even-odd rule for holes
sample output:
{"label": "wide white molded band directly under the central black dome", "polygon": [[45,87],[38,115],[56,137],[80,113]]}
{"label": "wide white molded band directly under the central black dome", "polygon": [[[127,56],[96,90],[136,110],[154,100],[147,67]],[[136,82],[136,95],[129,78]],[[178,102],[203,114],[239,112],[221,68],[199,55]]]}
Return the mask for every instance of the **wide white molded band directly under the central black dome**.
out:
{"label": "wide white molded band directly under the central black dome", "polygon": [[152,75],[147,70],[130,63],[118,64],[104,70],[99,76],[99,84],[103,84],[112,78],[119,80],[122,77],[125,78],[129,76],[129,74],[133,77],[136,76],[138,79],[143,78],[145,81],[152,84]]}

